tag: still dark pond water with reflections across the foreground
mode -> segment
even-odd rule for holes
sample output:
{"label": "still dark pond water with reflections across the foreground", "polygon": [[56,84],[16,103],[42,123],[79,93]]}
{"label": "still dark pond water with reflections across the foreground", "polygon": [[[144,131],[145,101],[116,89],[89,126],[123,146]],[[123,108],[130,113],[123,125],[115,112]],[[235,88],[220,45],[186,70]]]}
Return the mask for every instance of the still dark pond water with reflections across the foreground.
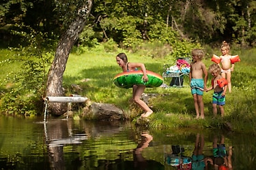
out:
{"label": "still dark pond water with reflections across the foreground", "polygon": [[[225,148],[214,154],[213,143],[225,143]],[[255,169],[255,156],[255,137],[222,131],[0,117],[0,169],[199,170],[205,163],[213,169],[211,163],[220,158],[240,170]]]}

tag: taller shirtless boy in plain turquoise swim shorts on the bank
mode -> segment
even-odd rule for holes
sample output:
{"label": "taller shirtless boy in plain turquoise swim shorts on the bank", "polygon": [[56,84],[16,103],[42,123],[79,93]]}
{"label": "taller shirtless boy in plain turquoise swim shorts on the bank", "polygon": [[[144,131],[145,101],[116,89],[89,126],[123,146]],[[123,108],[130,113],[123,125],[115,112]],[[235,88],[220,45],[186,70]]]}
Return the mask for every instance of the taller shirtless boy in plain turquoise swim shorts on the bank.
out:
{"label": "taller shirtless boy in plain turquoise swim shorts on the bank", "polygon": [[189,81],[191,93],[194,99],[195,112],[197,117],[204,118],[203,110],[203,91],[207,89],[206,83],[208,79],[208,72],[201,61],[203,59],[203,50],[192,50],[193,62],[190,64]]}

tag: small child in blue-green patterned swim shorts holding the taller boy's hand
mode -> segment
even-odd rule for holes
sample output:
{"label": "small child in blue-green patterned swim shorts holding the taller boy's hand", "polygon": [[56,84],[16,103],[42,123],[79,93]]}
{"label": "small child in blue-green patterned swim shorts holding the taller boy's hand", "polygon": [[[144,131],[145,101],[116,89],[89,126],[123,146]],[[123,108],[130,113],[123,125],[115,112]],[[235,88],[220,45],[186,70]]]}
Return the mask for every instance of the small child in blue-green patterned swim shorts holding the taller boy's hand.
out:
{"label": "small child in blue-green patterned swim shorts holding the taller boy's hand", "polygon": [[224,116],[224,105],[225,105],[225,95],[227,91],[227,80],[221,76],[221,67],[216,63],[210,65],[209,73],[212,74],[212,87],[208,88],[206,92],[214,89],[214,94],[212,95],[212,109],[214,116],[217,116],[217,105],[221,111],[221,116]]}

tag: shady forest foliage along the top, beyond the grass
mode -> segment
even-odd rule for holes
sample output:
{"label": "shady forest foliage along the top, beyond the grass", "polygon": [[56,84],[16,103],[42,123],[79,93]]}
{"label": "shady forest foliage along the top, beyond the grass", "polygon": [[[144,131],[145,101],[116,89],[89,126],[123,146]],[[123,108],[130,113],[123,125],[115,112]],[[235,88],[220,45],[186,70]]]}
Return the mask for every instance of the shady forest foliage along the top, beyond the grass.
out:
{"label": "shady forest foliage along the top, beyond the grass", "polygon": [[[10,35],[14,24],[25,24],[57,39],[87,1],[1,1],[0,32],[10,45],[19,39]],[[175,44],[175,37],[214,44],[223,39],[242,45],[255,44],[254,1],[94,1],[87,28],[78,44],[94,46],[113,39],[131,51],[142,41]],[[80,11],[80,13],[79,13]],[[81,14],[81,15],[79,15]],[[1,45],[2,45],[1,44]],[[16,44],[12,44],[14,46]],[[76,48],[81,54],[81,48]]]}

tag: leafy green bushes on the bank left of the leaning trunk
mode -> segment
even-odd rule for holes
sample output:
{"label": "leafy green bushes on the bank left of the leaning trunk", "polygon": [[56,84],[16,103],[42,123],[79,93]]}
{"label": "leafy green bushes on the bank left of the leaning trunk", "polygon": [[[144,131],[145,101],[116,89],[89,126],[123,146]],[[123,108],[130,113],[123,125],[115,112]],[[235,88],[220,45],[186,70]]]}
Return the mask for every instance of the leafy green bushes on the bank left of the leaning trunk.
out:
{"label": "leafy green bushes on the bank left of the leaning trunk", "polygon": [[[30,28],[26,28],[30,29]],[[29,42],[29,46],[13,49],[18,54],[14,63],[21,61],[19,67],[8,73],[1,94],[1,111],[7,114],[38,114],[42,109],[42,97],[46,88],[46,71],[52,59],[51,52],[44,52],[44,35],[31,29],[31,34],[14,31],[16,35]],[[51,44],[49,44],[51,46]]]}

